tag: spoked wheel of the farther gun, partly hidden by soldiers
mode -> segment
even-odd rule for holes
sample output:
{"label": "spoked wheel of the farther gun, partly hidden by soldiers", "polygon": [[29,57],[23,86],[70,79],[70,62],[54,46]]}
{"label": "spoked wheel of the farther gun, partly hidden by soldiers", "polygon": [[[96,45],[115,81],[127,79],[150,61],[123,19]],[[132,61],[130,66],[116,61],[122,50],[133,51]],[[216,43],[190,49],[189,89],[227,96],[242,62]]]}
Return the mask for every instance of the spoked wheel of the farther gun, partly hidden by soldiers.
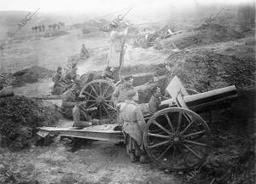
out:
{"label": "spoked wheel of the farther gun, partly hidden by soldiers", "polygon": [[107,80],[97,79],[84,85],[80,95],[84,95],[87,101],[86,108],[95,107],[100,119],[116,119],[116,109],[113,106],[112,95],[115,85]]}

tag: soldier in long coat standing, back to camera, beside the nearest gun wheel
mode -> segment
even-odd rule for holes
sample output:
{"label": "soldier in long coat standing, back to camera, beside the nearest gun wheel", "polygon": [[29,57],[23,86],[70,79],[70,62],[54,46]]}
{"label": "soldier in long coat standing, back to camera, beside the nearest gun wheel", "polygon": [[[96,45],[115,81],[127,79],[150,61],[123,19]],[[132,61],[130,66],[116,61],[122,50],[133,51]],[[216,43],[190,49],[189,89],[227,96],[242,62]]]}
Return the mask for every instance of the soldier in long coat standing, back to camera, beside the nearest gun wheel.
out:
{"label": "soldier in long coat standing, back to camera, beside the nearest gun wheel", "polygon": [[146,123],[141,108],[135,102],[135,90],[126,92],[126,100],[120,105],[119,122],[125,133],[126,151],[131,157],[131,163],[140,161],[148,163],[148,157],[143,148],[143,131]]}

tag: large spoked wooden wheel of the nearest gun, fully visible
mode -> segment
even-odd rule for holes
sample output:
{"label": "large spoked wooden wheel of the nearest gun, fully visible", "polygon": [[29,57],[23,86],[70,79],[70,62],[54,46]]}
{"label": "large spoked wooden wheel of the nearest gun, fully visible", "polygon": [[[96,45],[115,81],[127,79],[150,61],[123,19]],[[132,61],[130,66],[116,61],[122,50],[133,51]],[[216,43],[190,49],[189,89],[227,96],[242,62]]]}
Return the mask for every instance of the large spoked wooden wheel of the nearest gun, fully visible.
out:
{"label": "large spoked wooden wheel of the nearest gun, fully visible", "polygon": [[168,170],[193,170],[204,164],[212,135],[195,112],[169,107],[149,118],[143,139],[156,164]]}

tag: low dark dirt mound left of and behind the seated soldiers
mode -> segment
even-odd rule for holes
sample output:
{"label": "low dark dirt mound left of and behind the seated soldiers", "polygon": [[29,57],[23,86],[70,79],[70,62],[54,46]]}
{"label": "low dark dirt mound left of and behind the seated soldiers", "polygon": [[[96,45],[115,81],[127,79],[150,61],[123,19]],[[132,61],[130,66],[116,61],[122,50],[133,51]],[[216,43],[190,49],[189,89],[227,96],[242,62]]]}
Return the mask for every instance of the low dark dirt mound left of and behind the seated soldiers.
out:
{"label": "low dark dirt mound left of and behind the seated soldiers", "polygon": [[22,86],[25,83],[36,83],[39,79],[49,78],[54,74],[54,71],[41,66],[32,66],[24,70],[20,70],[13,74],[14,80],[11,83],[13,86]]}

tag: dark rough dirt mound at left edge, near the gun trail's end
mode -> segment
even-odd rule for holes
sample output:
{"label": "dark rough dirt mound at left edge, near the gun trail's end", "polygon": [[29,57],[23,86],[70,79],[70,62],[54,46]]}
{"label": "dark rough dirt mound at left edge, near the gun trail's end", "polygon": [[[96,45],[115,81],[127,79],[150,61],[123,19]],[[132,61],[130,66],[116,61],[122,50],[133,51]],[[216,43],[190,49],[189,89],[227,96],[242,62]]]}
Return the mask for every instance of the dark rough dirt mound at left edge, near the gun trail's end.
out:
{"label": "dark rough dirt mound at left edge, near the gun trail's end", "polygon": [[29,147],[36,127],[55,124],[59,116],[55,106],[25,96],[1,98],[1,145],[12,150]]}

